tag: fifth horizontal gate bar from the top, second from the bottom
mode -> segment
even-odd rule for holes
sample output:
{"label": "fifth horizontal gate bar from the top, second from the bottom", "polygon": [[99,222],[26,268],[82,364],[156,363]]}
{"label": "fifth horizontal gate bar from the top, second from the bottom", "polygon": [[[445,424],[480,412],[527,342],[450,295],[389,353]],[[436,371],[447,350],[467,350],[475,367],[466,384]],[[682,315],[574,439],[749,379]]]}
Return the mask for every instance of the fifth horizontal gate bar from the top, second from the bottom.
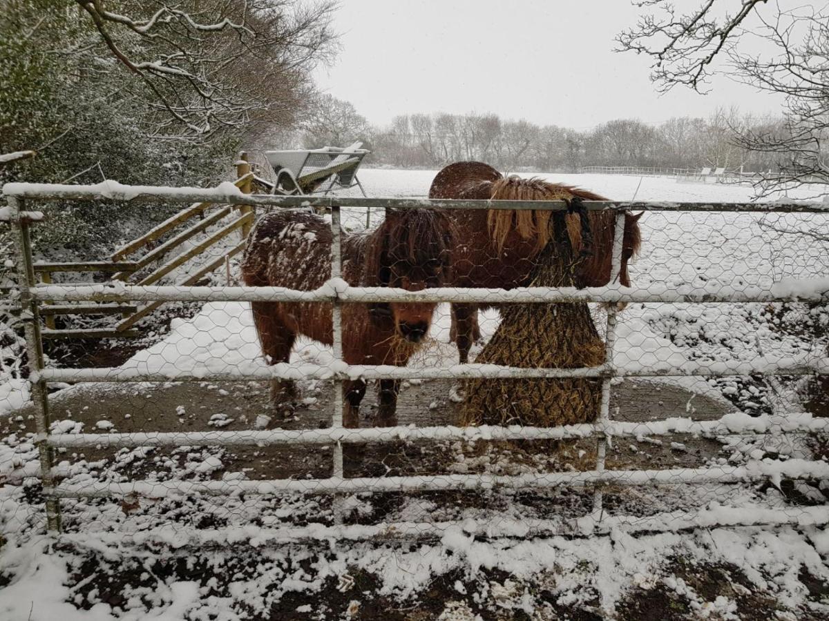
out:
{"label": "fifth horizontal gate bar from the top, second from the bottom", "polygon": [[[60,474],[60,473],[56,473]],[[739,483],[744,481],[778,479],[827,479],[829,463],[824,461],[752,461],[742,466],[712,466],[708,468],[678,468],[667,470],[586,470],[584,472],[496,474],[425,474],[343,479],[273,479],[221,481],[130,481],[109,483],[85,481],[83,484],[60,484],[44,489],[47,496],[56,498],[105,498],[109,496],[140,496],[168,498],[208,495],[275,495],[280,493],[358,493],[358,492],[417,492],[465,489],[521,489],[583,487],[595,484],[618,485],[676,485],[693,483]]]}

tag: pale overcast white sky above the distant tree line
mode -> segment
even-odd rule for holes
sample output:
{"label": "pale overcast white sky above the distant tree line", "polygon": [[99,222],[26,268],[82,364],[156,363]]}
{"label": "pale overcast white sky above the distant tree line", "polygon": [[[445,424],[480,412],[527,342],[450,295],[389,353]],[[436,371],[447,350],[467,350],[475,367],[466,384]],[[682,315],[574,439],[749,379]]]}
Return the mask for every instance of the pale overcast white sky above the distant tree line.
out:
{"label": "pale overcast white sky above the distant tree line", "polygon": [[729,79],[706,96],[658,95],[646,58],[612,51],[637,15],[629,0],[343,0],[334,22],[342,52],[315,78],[379,124],[401,113],[476,111],[590,128],[705,116],[718,105],[779,109],[778,99]]}

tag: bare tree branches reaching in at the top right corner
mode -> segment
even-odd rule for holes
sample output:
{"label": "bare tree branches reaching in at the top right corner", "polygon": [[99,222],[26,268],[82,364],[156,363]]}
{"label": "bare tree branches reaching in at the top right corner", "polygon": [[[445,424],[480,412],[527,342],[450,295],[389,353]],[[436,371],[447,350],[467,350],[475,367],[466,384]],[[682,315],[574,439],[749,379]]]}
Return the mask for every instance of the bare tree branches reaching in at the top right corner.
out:
{"label": "bare tree branches reaching in at the top right corner", "polygon": [[[718,71],[732,79],[785,97],[783,123],[731,128],[739,147],[772,154],[778,171],[759,178],[761,193],[829,183],[829,11],[781,6],[767,0],[705,0],[687,13],[669,0],[638,0],[636,26],[617,37],[618,51],[652,60],[657,89],[684,85],[705,92]],[[731,8],[731,11],[729,9]],[[761,41],[770,52],[754,50]],[[821,193],[822,194],[822,193]]]}

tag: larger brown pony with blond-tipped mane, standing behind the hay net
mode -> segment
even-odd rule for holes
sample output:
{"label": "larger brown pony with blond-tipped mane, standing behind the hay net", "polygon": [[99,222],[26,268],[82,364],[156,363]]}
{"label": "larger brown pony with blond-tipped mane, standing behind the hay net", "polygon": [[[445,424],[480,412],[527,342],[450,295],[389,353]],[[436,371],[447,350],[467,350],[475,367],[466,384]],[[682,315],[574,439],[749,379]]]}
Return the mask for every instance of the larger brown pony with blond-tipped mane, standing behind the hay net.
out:
{"label": "larger brown pony with blond-tipped mane, standing behind the hay net", "polygon": [[[541,179],[502,176],[481,161],[458,161],[438,172],[429,189],[433,199],[482,200],[607,200],[570,185]],[[453,285],[511,289],[526,282],[536,258],[550,240],[550,211],[541,209],[448,209],[453,237]],[[638,219],[642,214],[625,212],[622,265],[619,280],[630,286],[628,262],[642,243]],[[616,212],[590,211],[592,232],[589,253],[574,267],[576,285],[603,286],[610,281]],[[574,255],[583,248],[582,229],[577,214],[566,217],[567,233]],[[453,304],[452,339],[458,344],[460,361],[467,362],[469,349],[480,338],[478,308],[472,304]]]}

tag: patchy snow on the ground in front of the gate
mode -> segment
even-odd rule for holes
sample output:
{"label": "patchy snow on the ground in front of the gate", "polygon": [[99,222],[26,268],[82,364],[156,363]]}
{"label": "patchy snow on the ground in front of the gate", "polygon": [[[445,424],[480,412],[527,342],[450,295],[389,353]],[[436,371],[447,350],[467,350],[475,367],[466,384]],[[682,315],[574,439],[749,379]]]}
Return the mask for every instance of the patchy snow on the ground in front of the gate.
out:
{"label": "patchy snow on the ground in front of the gate", "polygon": [[[818,533],[815,534],[817,536]],[[0,590],[0,611],[5,613],[4,618],[27,619],[30,610],[33,621],[147,618],[143,609],[132,606],[125,614],[118,614],[109,604],[104,603],[97,604],[89,612],[78,611],[74,606],[65,604],[64,600],[70,599],[70,589],[63,585],[71,569],[71,560],[59,551],[46,553],[43,543],[36,541],[30,549],[24,551],[16,548],[7,553],[11,557],[9,566],[17,569],[16,574],[22,580]],[[236,545],[240,544],[237,542]],[[117,551],[112,545],[99,544],[95,549],[109,554]],[[303,552],[298,547],[281,546],[280,551],[271,551],[266,558],[275,561],[286,556],[302,558]],[[451,575],[453,572],[461,572],[462,575],[472,572],[474,575],[478,570],[497,569],[509,572],[512,577],[503,584],[487,585],[488,588],[483,593],[492,595],[492,599],[504,604],[512,603],[515,608],[527,610],[540,602],[525,597],[523,581],[536,580],[556,567],[555,585],[551,588],[559,597],[560,604],[575,603],[581,597],[589,595],[584,593],[585,582],[589,582],[599,597],[601,609],[609,613],[629,585],[635,584],[642,588],[656,585],[658,576],[669,559],[676,557],[687,563],[730,563],[745,572],[754,589],[771,590],[788,606],[798,604],[803,597],[804,589],[797,580],[801,566],[807,567],[813,575],[826,575],[817,552],[799,533],[790,528],[778,532],[753,528],[736,531],[715,528],[696,533],[660,533],[640,537],[618,532],[612,539],[550,537],[500,542],[475,541],[463,532],[454,531],[448,532],[439,543],[409,546],[402,550],[383,543],[342,546],[337,551],[323,553],[318,560],[312,561],[310,571],[321,578],[343,576],[347,567],[352,568],[351,571],[371,571],[381,576],[383,595],[403,601],[423,590],[435,576]],[[274,595],[271,580],[279,575],[284,575],[286,579],[277,587],[279,591],[306,591],[310,601],[317,601],[313,594],[319,589],[319,580],[313,580],[313,575],[297,578],[291,576],[287,580],[289,574],[277,570],[271,562],[264,562],[261,572],[259,584],[252,580],[240,581],[234,589],[237,598],[253,609],[267,608],[269,595]],[[670,580],[667,579],[669,584]],[[347,581],[344,584],[347,588]],[[682,588],[679,583],[675,584]],[[684,588],[688,589],[687,586]],[[136,594],[142,593],[137,586],[131,590]],[[353,593],[351,590],[346,592]],[[354,595],[348,597],[347,601],[356,601]],[[216,614],[218,611],[230,610],[230,602],[226,600],[200,600],[196,583],[189,581],[162,585],[158,590],[157,602],[158,608],[153,619],[200,619],[201,617],[192,615],[200,614],[200,611],[210,610]],[[701,606],[705,604],[700,601]],[[728,605],[723,601],[709,605],[711,604],[718,607]],[[315,604],[302,604],[298,608],[310,611],[314,606]],[[463,607],[447,607],[448,610],[456,611],[460,608]],[[442,618],[467,617],[449,616],[447,613]]]}

